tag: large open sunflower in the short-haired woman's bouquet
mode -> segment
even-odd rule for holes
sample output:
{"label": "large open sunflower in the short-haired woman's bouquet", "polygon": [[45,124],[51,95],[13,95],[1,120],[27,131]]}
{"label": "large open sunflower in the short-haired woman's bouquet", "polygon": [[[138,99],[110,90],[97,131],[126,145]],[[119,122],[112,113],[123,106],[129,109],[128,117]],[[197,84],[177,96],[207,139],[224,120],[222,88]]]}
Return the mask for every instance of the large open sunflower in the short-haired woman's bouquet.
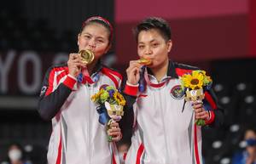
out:
{"label": "large open sunflower in the short-haired woman's bouquet", "polygon": [[202,71],[192,71],[192,74],[185,74],[181,78],[185,88],[194,90],[203,87],[204,72]]}

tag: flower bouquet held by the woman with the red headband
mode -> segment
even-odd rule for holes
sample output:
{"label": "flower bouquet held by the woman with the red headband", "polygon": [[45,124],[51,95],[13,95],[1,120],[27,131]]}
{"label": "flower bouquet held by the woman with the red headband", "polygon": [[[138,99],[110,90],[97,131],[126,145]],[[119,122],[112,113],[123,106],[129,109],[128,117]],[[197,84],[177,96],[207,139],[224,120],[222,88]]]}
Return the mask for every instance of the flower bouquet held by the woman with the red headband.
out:
{"label": "flower bouquet held by the woman with the red headband", "polygon": [[[99,122],[107,125],[107,131],[111,122],[119,122],[124,116],[125,99],[119,91],[113,86],[103,86],[99,92],[91,97],[91,100],[98,104],[97,112],[99,113]],[[108,136],[108,141],[112,137]]]}

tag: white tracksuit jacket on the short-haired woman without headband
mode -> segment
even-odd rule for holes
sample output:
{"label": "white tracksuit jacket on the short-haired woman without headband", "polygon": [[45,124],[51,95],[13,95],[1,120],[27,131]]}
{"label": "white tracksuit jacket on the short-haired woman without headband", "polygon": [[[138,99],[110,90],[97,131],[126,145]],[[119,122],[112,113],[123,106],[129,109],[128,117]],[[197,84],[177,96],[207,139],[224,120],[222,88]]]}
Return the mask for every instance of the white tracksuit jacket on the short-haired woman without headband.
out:
{"label": "white tracksuit jacket on the short-haired woman without headband", "polygon": [[[135,119],[125,164],[202,164],[201,126],[195,125],[193,108],[189,102],[184,104],[180,92],[180,76],[196,69],[170,61],[160,82],[146,71],[149,82],[144,92],[126,84],[124,93],[136,99],[130,103]],[[205,94],[204,105],[211,106],[207,125],[218,126],[223,122],[222,110],[218,110],[212,91]]]}

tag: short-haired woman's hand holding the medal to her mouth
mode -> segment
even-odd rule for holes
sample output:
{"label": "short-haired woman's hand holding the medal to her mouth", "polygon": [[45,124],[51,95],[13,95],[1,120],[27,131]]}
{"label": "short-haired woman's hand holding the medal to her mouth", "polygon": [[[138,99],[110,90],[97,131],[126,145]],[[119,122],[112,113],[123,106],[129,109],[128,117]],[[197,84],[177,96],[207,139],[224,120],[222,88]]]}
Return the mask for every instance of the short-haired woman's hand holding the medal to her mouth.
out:
{"label": "short-haired woman's hand holding the medal to her mouth", "polygon": [[132,85],[137,85],[140,79],[140,69],[142,65],[140,65],[137,60],[131,60],[130,65],[126,70],[127,74],[127,82]]}

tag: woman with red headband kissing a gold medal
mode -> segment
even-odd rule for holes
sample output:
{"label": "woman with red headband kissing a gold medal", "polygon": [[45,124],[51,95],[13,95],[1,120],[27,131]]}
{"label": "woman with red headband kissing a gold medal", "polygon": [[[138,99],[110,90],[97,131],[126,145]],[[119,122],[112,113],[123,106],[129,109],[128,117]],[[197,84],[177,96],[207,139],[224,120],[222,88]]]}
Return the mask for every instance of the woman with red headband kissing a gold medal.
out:
{"label": "woman with red headband kissing a gold medal", "polygon": [[[69,54],[67,64],[53,65],[47,71],[39,100],[39,114],[52,121],[49,164],[118,163],[114,142],[121,139],[119,123],[99,122],[92,95],[104,86],[119,88],[122,76],[102,65],[101,58],[111,47],[113,27],[108,20],[94,16],[85,20],[78,35],[79,51],[90,50],[92,62],[80,54]],[[89,55],[90,56],[90,55]],[[111,142],[108,142],[111,136]]]}

